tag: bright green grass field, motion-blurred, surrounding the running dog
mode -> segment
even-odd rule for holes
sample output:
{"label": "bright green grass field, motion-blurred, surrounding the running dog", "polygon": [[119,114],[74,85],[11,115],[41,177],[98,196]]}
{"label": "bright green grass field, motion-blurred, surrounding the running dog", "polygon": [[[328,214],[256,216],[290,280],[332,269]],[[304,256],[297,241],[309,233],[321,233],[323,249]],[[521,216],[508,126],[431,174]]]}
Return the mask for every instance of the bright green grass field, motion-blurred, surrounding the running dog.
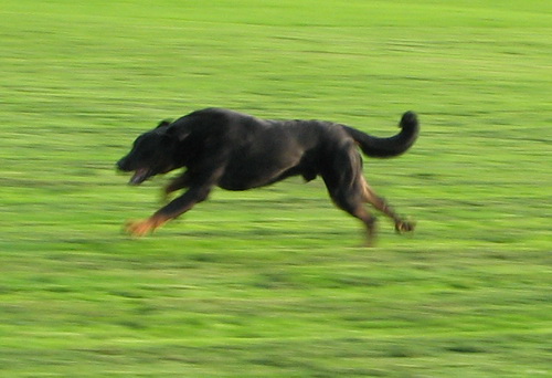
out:
{"label": "bright green grass field, motion-blurred, surrounding the running dog", "polygon": [[[552,3],[3,0],[0,377],[552,377]],[[361,248],[320,180],[153,237],[115,161],[206,106],[422,120]]]}

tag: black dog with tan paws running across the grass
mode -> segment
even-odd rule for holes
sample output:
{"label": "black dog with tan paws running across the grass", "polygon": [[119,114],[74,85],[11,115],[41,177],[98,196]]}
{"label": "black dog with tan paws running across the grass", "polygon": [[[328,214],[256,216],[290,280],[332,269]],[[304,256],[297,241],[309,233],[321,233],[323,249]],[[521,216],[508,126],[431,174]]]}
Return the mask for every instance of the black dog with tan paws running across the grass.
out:
{"label": "black dog with tan paws running across the grass", "polygon": [[365,224],[369,244],[375,235],[375,218],[364,202],[391,217],[396,231],[412,231],[414,224],[396,216],[370,188],[357,150],[359,146],[367,156],[379,158],[403,154],[416,140],[416,115],[405,113],[400,127],[395,136],[378,138],[329,122],[265,120],[221,108],[162,122],[139,136],[117,166],[134,171],[132,185],[185,167],[164,192],[188,190],[147,220],[129,222],[127,231],[144,235],[155,230],[205,200],[213,187],[246,190],[290,176],[306,181],[320,176],[333,202]]}

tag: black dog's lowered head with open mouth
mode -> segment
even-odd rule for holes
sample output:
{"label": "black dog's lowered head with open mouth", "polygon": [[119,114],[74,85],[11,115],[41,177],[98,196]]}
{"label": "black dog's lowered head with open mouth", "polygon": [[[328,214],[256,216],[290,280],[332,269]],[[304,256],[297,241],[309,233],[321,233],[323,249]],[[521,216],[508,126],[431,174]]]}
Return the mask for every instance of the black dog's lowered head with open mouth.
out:
{"label": "black dog's lowered head with open mouth", "polygon": [[129,183],[140,185],[152,176],[179,168],[174,156],[181,138],[170,125],[170,122],[162,120],[157,128],[140,135],[130,153],[117,161],[119,170],[134,172]]}

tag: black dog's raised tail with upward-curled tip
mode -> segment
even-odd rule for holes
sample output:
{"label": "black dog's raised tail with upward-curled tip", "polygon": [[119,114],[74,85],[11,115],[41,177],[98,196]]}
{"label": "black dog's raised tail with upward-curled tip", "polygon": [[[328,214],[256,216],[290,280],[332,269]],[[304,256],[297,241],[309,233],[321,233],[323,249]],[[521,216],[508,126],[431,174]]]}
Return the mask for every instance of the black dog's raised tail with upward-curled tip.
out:
{"label": "black dog's raised tail with upward-curled tip", "polygon": [[403,114],[399,123],[401,132],[389,138],[379,138],[352,127],[343,126],[346,132],[359,144],[364,155],[378,158],[399,156],[405,153],[416,140],[420,124],[414,112]]}

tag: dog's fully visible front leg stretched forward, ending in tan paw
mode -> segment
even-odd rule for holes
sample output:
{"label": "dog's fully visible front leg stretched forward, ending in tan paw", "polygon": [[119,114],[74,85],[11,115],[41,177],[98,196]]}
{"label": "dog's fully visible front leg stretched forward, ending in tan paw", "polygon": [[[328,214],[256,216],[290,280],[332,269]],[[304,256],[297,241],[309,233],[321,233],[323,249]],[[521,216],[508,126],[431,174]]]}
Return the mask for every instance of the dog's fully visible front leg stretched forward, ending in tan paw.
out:
{"label": "dog's fully visible front leg stretched forward, ending in tan paw", "polygon": [[191,187],[185,193],[173,199],[169,204],[158,210],[153,216],[141,221],[129,221],[126,231],[134,237],[142,237],[152,232],[171,219],[190,210],[195,203],[204,201],[212,186]]}

